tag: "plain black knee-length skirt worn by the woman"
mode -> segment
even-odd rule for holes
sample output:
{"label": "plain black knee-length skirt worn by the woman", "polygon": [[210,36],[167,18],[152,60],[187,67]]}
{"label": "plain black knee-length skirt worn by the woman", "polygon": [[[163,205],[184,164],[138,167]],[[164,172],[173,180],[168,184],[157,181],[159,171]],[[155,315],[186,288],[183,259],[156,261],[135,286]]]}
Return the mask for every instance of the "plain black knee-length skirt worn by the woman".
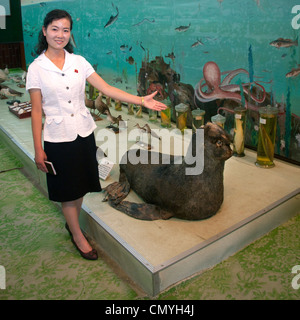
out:
{"label": "plain black knee-length skirt worn by the woman", "polygon": [[100,192],[98,162],[94,133],[77,136],[71,142],[44,142],[47,160],[53,163],[57,175],[47,173],[49,199],[73,201],[88,192]]}

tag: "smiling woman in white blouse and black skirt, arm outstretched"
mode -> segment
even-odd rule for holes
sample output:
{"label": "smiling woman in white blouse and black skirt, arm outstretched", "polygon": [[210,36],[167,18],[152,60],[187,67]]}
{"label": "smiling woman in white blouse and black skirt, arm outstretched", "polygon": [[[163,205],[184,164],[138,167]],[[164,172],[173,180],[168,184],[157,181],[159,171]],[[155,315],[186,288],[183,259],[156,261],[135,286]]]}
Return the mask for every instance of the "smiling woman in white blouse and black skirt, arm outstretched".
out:
{"label": "smiling woman in white blouse and black skirt, arm outstretched", "polygon": [[[156,92],[138,97],[107,84],[90,63],[73,54],[72,24],[71,16],[64,10],[53,10],[46,15],[36,50],[39,56],[28,68],[26,89],[32,103],[35,163],[47,173],[49,199],[61,202],[66,228],[81,256],[96,260],[97,251],[79,226],[83,196],[101,191],[93,133],[96,125],[84,104],[86,81],[116,100],[157,111],[166,106],[153,99]],[[57,175],[48,173],[46,160],[53,163]]]}

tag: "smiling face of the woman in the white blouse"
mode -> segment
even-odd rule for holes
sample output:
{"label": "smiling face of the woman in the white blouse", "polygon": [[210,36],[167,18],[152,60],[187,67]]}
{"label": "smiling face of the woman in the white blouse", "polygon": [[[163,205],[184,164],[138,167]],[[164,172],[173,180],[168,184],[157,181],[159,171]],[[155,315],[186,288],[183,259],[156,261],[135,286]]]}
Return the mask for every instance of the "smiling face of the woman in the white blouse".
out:
{"label": "smiling face of the woman in the white blouse", "polygon": [[54,50],[63,49],[71,36],[70,21],[67,18],[53,20],[47,28],[43,27],[43,33],[49,47]]}

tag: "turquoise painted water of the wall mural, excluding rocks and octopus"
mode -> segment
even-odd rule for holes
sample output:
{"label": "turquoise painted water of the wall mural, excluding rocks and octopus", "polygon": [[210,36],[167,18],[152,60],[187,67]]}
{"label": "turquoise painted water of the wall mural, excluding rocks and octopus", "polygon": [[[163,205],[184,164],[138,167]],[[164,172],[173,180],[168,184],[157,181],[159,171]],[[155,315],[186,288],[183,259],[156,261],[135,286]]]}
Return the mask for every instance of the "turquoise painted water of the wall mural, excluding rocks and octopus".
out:
{"label": "turquoise painted water of the wall mural, excluding rocks and octopus", "polygon": [[[203,77],[207,61],[215,61],[221,71],[244,68],[288,113],[280,121],[276,153],[300,161],[300,75],[286,78],[299,67],[300,49],[270,45],[278,38],[298,39],[300,29],[291,25],[293,18],[297,22],[291,11],[298,4],[297,0],[60,0],[31,5],[22,1],[26,62],[35,57],[33,48],[46,13],[60,8],[74,20],[75,52],[98,65],[97,72],[107,82],[132,93],[142,61],[156,56],[193,87]],[[118,19],[104,28],[116,8]],[[178,32],[181,26],[189,28]],[[192,47],[197,41],[200,44]],[[235,81],[239,79],[249,82],[239,77]],[[251,144],[255,143],[254,138]]]}

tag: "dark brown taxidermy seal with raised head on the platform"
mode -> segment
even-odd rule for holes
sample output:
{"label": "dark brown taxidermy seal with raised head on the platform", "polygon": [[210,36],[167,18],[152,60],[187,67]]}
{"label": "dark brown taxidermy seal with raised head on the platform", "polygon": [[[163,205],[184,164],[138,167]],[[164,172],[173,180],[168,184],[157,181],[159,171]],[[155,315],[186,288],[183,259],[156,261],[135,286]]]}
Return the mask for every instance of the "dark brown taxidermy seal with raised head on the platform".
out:
{"label": "dark brown taxidermy seal with raised head on the platform", "polygon": [[[193,155],[201,147],[196,142],[194,133],[189,145]],[[103,201],[108,201],[113,208],[141,220],[171,217],[201,220],[219,210],[224,197],[224,164],[232,156],[232,150],[229,135],[218,125],[207,123],[204,126],[204,168],[201,174],[186,174],[186,168],[191,165],[187,164],[185,157],[181,164],[176,164],[173,156],[169,164],[162,164],[164,155],[159,153],[158,164],[151,164],[151,151],[131,149],[124,157],[130,159],[130,153],[146,153],[144,156],[149,161],[148,164],[122,164],[124,162],[121,161],[119,182],[104,189],[106,196]],[[123,201],[130,188],[145,203]]]}

